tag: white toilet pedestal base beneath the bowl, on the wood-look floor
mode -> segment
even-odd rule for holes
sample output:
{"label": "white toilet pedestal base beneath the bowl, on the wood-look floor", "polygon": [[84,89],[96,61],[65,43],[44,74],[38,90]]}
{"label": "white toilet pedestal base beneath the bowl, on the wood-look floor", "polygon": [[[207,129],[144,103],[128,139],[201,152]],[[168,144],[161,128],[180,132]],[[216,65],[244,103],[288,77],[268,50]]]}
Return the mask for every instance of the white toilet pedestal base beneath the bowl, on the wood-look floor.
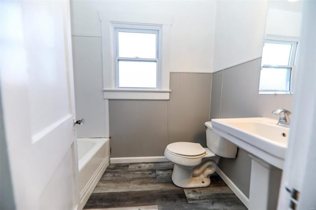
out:
{"label": "white toilet pedestal base beneath the bowl, on the wood-look floor", "polygon": [[175,164],[171,179],[175,185],[182,188],[207,187],[211,183],[209,176],[216,168],[216,163],[212,160],[205,161],[197,167]]}

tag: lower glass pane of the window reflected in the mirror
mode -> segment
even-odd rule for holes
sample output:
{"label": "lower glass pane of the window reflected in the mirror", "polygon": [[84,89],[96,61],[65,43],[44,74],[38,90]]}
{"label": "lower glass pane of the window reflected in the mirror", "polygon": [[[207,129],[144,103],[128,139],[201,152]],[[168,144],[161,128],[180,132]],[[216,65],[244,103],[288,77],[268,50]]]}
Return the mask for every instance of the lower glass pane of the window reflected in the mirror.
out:
{"label": "lower glass pane of the window reflected in the mirror", "polygon": [[290,91],[291,68],[262,68],[259,90]]}

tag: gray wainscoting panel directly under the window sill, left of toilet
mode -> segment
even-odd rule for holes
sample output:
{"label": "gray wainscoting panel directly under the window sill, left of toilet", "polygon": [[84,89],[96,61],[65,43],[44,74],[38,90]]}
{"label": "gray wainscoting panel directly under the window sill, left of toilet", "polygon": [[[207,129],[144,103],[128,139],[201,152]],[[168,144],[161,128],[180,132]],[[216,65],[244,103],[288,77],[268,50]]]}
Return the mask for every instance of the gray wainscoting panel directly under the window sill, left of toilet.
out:
{"label": "gray wainscoting panel directly under the window sill, left of toilet", "polygon": [[167,101],[109,101],[111,157],[162,156],[168,143]]}

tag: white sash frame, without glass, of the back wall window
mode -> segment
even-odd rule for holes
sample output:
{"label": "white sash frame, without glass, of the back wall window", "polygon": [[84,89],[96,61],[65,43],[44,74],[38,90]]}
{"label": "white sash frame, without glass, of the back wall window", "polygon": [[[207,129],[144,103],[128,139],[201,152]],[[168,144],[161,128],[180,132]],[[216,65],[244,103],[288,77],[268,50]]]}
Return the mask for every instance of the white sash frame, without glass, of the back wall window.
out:
{"label": "white sash frame, without glass, of the back wall window", "polygon": [[[113,23],[113,32],[114,32],[114,65],[115,65],[115,88],[117,89],[127,89],[127,90],[161,90],[161,49],[162,49],[162,40],[161,40],[161,26],[148,25],[148,24],[121,24]],[[119,32],[130,32],[130,33],[143,33],[143,34],[156,34],[156,58],[126,58],[119,57],[118,49],[118,33]],[[118,61],[138,61],[138,62],[156,62],[156,87],[119,87],[119,69]]]}

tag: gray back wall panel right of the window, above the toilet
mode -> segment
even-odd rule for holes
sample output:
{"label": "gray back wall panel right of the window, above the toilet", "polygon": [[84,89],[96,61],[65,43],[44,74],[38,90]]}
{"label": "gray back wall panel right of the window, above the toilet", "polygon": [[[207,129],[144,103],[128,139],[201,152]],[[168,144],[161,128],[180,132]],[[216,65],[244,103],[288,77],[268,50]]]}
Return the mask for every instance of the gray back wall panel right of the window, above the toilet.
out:
{"label": "gray back wall panel right of the window, above the toilet", "polygon": [[210,73],[170,74],[169,142],[206,146],[204,123],[209,116],[210,88]]}

